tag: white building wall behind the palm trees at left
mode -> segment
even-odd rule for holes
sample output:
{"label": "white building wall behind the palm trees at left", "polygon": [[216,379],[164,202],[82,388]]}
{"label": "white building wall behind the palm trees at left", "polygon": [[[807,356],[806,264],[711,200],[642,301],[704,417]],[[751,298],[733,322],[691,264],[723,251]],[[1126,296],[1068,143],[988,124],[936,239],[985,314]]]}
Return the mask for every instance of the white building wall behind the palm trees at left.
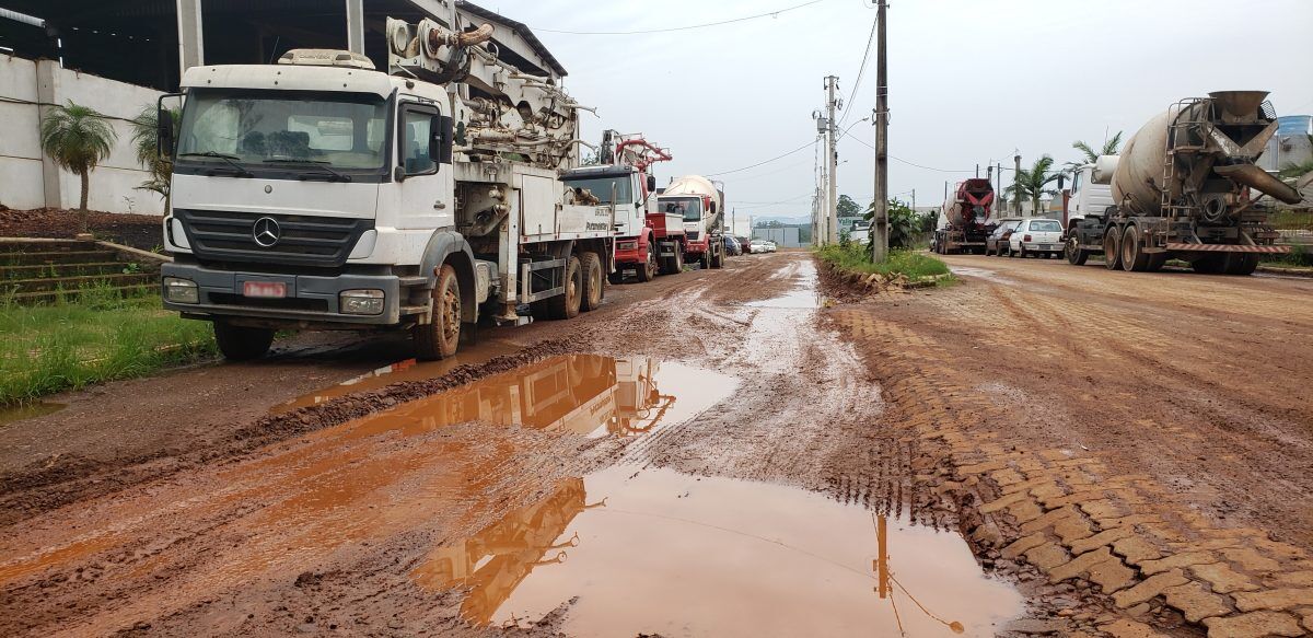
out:
{"label": "white building wall behind the palm trees at left", "polygon": [[[154,108],[159,92],[59,68],[54,60],[0,56],[0,203],[12,209],[77,206],[80,179],[55,167],[41,150],[41,116],[70,100],[109,118],[118,133],[108,160],[91,173],[92,210],[163,214],[163,200],[139,190],[150,173],[137,163],[127,122],[142,108]],[[39,104],[38,104],[39,102]]]}

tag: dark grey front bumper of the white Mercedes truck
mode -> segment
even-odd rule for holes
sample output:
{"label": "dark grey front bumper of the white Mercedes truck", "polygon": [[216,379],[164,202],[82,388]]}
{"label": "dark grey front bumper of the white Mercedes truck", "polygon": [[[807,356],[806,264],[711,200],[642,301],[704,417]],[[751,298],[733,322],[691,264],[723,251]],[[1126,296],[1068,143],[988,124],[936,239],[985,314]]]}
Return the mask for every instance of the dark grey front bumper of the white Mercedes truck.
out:
{"label": "dark grey front bumper of the white Mercedes truck", "polygon": [[[394,326],[400,323],[400,278],[394,274],[337,274],[319,277],[310,274],[270,274],[243,270],[219,270],[200,264],[163,264],[160,277],[194,281],[197,303],[164,301],[167,310],[175,310],[197,319],[243,318],[269,323],[316,323]],[[288,295],[281,299],[243,297],[244,284],[281,282]],[[339,308],[339,294],[344,290],[382,290],[383,311],[377,315],[348,315]]]}

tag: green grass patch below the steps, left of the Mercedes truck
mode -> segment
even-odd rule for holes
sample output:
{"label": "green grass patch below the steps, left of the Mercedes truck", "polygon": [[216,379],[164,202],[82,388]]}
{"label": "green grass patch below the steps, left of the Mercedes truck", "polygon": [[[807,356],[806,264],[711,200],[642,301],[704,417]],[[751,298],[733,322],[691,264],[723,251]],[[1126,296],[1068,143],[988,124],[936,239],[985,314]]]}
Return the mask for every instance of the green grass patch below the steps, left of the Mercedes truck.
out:
{"label": "green grass patch below the steps, left of the Mercedes truck", "polygon": [[217,352],[209,324],[163,310],[154,294],[88,290],[77,301],[35,307],[0,299],[0,406]]}

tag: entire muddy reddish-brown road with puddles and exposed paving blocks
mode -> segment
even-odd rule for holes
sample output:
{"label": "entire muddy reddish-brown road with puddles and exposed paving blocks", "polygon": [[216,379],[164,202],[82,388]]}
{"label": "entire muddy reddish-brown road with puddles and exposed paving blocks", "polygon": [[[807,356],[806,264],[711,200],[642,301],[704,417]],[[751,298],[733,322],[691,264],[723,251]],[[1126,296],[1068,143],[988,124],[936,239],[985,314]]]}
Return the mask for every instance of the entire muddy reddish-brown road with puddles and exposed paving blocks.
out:
{"label": "entire muddy reddish-brown road with puddles and exposed paving blocks", "polygon": [[56,398],[0,427],[0,634],[1308,630],[1313,282],[951,260]]}

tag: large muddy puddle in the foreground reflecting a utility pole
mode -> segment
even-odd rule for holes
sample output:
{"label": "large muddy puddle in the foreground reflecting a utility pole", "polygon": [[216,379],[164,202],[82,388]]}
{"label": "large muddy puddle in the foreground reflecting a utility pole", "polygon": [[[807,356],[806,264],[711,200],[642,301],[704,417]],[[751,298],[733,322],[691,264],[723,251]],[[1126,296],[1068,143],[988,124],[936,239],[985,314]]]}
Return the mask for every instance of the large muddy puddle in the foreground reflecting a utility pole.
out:
{"label": "large muddy puddle in the foreground reflecting a utility pole", "polygon": [[[884,555],[884,559],[881,559]],[[962,540],[764,483],[614,466],[446,543],[412,571],[470,622],[639,635],[994,635],[1022,612]]]}

